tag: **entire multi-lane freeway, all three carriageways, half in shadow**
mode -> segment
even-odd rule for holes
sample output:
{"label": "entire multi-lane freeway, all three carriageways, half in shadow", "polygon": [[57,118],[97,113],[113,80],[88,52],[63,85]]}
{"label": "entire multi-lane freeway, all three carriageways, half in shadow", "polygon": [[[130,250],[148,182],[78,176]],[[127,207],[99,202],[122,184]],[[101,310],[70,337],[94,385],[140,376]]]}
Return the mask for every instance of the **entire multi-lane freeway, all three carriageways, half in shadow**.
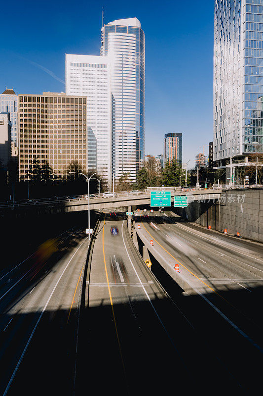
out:
{"label": "entire multi-lane freeway, all three carriageways, half in shadow", "polygon": [[0,394],[254,394],[262,246],[137,211],[150,252],[193,282],[184,293],[153,256],[147,268],[124,213],[104,210],[89,247],[78,226],[2,271]]}

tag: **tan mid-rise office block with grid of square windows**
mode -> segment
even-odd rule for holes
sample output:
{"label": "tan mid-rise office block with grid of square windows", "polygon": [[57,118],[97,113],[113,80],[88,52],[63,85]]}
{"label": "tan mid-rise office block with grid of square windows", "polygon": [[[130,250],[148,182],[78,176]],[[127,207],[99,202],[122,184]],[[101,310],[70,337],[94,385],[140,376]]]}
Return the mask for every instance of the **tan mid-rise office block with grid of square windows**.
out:
{"label": "tan mid-rise office block with grid of square windows", "polygon": [[87,173],[87,98],[65,93],[19,95],[19,177],[30,177],[34,159],[58,179],[69,166]]}

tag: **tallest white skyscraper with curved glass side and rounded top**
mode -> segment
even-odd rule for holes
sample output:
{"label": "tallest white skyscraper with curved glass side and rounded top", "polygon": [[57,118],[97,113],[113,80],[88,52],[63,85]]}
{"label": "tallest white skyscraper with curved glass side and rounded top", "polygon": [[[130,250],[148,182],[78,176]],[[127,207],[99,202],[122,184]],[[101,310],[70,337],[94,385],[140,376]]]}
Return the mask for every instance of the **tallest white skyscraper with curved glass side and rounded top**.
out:
{"label": "tallest white skyscraper with curved glass side and rounded top", "polygon": [[144,161],[145,35],[137,18],[118,19],[102,27],[102,57],[111,62],[112,163],[136,182]]}

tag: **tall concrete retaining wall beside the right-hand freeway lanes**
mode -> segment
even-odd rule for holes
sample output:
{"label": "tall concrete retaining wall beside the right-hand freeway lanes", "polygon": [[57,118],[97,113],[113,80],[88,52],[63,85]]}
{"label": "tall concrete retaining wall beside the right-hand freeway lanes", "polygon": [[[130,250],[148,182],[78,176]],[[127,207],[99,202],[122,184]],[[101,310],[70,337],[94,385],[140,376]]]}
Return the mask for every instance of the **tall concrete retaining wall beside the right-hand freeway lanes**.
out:
{"label": "tall concrete retaining wall beside the right-hand freeway lanes", "polygon": [[219,202],[193,201],[186,208],[174,208],[177,214],[213,230],[263,242],[263,189],[227,190]]}

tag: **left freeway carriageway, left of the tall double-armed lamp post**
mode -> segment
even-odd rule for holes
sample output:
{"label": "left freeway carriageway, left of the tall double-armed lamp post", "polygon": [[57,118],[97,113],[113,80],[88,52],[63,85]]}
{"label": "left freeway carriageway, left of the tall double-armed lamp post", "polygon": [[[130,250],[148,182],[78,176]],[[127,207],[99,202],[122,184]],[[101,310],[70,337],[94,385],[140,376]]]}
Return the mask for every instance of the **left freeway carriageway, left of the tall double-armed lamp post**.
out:
{"label": "left freeway carriageway, left of the tall double-armed lamp post", "polygon": [[75,226],[0,276],[0,395],[73,395],[88,238]]}

